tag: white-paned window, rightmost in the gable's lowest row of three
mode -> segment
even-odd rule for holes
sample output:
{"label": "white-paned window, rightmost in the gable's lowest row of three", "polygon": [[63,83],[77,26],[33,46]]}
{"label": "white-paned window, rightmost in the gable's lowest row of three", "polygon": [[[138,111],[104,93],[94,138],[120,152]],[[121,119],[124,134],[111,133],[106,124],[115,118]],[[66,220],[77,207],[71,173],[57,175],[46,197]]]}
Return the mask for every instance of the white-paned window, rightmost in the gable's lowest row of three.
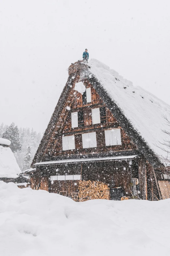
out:
{"label": "white-paned window, rightmost in the gable's lowest row of three", "polygon": [[106,146],[121,145],[120,129],[112,129],[105,131]]}

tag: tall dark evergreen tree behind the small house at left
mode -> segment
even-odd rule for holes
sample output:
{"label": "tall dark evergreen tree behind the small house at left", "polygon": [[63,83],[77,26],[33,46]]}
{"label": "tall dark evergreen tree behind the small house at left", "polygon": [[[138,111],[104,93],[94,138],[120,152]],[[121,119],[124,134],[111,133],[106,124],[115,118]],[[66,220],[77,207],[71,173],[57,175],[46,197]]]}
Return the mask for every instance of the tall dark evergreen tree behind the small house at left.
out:
{"label": "tall dark evergreen tree behind the small house at left", "polygon": [[2,136],[4,139],[8,139],[11,141],[10,148],[12,152],[16,152],[17,150],[21,150],[21,143],[19,137],[19,130],[18,127],[12,123],[6,131],[3,133]]}

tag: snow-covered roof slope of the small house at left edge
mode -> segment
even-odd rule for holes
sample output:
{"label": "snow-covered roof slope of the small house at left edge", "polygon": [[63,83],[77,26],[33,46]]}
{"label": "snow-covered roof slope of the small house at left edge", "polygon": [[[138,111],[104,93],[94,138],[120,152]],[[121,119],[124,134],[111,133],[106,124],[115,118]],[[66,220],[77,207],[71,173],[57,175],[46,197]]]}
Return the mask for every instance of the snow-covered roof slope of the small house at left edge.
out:
{"label": "snow-covered roof slope of the small house at left edge", "polygon": [[0,178],[17,178],[20,172],[11,149],[0,145]]}

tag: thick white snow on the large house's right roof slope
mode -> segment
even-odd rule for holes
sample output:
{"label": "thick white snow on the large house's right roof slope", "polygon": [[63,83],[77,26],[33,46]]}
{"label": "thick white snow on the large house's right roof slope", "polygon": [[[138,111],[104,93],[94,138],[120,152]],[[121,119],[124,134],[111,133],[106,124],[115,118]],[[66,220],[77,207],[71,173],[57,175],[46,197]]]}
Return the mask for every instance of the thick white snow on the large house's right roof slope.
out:
{"label": "thick white snow on the large house's right roof slope", "polygon": [[116,71],[98,60],[91,59],[89,66],[90,72],[117,102],[149,146],[158,155],[166,156],[155,144],[160,145],[158,141],[168,139],[162,132],[162,129],[168,129],[162,116],[166,115],[170,119],[170,106],[141,87],[134,87],[132,82],[123,79]]}

